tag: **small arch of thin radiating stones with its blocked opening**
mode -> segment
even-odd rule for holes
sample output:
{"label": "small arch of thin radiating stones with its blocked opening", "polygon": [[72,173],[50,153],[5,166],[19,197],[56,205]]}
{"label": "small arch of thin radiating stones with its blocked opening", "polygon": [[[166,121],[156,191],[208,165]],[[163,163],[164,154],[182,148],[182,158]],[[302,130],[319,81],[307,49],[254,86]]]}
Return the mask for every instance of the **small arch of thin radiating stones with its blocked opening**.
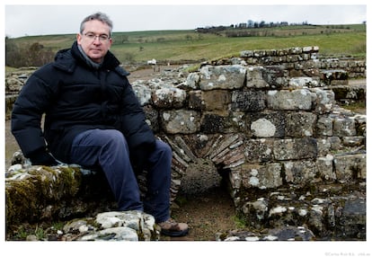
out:
{"label": "small arch of thin radiating stones with its blocked opening", "polygon": [[162,137],[173,148],[172,200],[179,191],[194,194],[217,186],[232,168],[244,164],[242,134]]}

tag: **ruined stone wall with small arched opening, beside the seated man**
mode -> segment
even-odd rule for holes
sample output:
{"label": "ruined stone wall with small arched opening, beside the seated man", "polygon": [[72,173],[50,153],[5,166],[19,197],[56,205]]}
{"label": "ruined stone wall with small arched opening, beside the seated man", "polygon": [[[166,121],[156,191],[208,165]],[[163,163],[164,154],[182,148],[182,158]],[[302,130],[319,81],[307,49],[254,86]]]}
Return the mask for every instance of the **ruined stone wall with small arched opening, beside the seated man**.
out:
{"label": "ruined stone wall with small arched opening, beside the seated man", "polygon": [[[335,104],[316,48],[275,52],[293,61],[253,66],[244,52],[180,84],[134,85],[149,124],[173,147],[173,193],[191,164],[211,161],[255,229],[306,224],[318,236],[363,237],[366,117]],[[340,214],[349,205],[359,207],[357,221]]]}

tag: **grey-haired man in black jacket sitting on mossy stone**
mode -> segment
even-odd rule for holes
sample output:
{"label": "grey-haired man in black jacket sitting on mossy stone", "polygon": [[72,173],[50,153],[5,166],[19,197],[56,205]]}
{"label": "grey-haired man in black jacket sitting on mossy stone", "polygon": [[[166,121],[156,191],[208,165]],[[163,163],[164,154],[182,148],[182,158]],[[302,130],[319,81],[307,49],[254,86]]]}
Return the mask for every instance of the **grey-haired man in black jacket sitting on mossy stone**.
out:
{"label": "grey-haired man in black jacket sitting on mossy stone", "polygon": [[[32,164],[54,165],[56,157],[100,166],[120,210],[146,211],[164,235],[186,235],[187,224],[170,218],[172,149],[146,124],[128,73],[109,50],[111,31],[106,14],[86,17],[72,48],[31,75],[13,106],[13,135]],[[147,171],[143,201],[133,167]]]}

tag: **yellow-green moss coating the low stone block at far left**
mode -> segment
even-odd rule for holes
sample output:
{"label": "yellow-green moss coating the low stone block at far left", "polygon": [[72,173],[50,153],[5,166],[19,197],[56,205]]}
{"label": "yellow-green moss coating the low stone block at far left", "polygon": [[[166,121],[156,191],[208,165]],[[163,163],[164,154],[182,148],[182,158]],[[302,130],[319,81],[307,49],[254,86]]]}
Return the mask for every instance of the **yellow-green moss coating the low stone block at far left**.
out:
{"label": "yellow-green moss coating the low stone block at far left", "polygon": [[35,166],[27,173],[22,180],[6,182],[7,226],[38,220],[48,206],[52,207],[48,217],[53,217],[53,211],[66,204],[61,199],[71,199],[79,191],[82,176],[80,168],[69,166]]}

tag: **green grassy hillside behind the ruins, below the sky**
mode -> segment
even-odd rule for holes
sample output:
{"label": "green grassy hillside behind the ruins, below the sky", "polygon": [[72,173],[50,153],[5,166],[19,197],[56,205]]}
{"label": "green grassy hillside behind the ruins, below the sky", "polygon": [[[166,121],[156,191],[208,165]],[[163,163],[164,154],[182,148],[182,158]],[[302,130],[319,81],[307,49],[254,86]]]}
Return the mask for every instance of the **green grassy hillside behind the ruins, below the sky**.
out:
{"label": "green grassy hillside behind the ruins, below the sky", "polygon": [[[236,30],[235,30],[236,31]],[[319,46],[324,57],[366,57],[366,25],[287,26],[244,29],[245,37],[231,37],[232,30],[215,33],[197,31],[114,32],[111,51],[123,63],[143,63],[155,58],[163,62],[202,61],[239,56],[248,49],[286,49]],[[27,48],[39,43],[56,52],[69,48],[75,35],[45,35],[11,39]]]}

